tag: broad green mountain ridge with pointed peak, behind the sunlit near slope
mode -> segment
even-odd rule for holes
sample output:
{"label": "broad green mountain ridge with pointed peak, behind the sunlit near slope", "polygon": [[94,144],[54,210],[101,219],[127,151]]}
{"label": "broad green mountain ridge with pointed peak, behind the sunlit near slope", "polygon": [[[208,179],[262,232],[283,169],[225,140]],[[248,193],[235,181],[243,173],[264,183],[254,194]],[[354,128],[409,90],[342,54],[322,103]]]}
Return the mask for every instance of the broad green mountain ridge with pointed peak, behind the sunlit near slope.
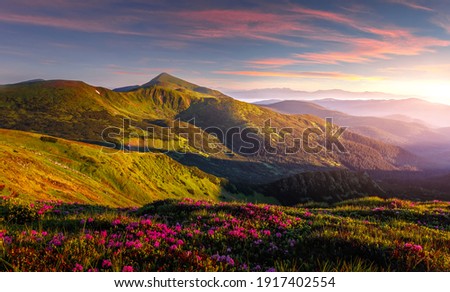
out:
{"label": "broad green mountain ridge with pointed peak, behind the sunlit near slope", "polygon": [[[91,143],[105,142],[102,133],[113,127],[120,135],[108,142],[118,149],[163,152],[236,184],[264,183],[325,169],[409,171],[422,167],[418,157],[400,147],[351,132],[342,136],[349,153],[326,151],[322,135],[309,138],[311,145],[322,147],[319,153],[302,147],[288,154],[286,147],[294,145],[295,139],[302,141],[308,128],[325,133],[325,121],[312,115],[280,114],[168,74],[152,80],[153,85],[129,92],[64,80],[3,86],[0,127]],[[164,132],[167,128],[173,131],[171,135]],[[258,151],[244,152],[241,149],[248,143],[242,131],[252,128],[257,129],[252,141],[257,142]],[[286,128],[292,128],[293,134],[277,130]],[[240,134],[229,140],[212,129],[222,133],[235,129]],[[214,151],[208,148],[210,142]],[[267,151],[268,146],[275,154]]]}

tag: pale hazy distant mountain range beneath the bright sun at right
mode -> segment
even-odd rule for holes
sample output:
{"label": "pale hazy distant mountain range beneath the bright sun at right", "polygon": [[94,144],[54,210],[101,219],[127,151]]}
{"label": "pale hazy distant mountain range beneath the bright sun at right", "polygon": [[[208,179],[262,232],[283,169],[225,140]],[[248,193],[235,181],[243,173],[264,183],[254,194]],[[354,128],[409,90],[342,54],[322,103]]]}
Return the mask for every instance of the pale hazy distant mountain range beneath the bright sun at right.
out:
{"label": "pale hazy distant mountain range beneath the bright sun at right", "polygon": [[383,92],[350,92],[340,89],[313,92],[289,88],[230,91],[241,100],[268,105],[284,100],[312,101],[330,110],[354,116],[389,117],[392,119],[420,120],[435,128],[450,126],[450,105],[432,103],[418,97]]}

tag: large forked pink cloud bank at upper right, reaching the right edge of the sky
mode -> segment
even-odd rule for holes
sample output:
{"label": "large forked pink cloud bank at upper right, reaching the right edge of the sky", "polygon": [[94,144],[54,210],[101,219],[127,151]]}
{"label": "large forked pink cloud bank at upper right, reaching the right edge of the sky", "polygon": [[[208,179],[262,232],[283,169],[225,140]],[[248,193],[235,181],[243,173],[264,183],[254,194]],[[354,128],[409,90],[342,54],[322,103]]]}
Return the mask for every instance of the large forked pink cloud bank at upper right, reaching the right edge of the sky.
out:
{"label": "large forked pink cloud bank at upper right, reaching the right edge of the sky", "polygon": [[[182,23],[194,23],[184,35],[185,38],[245,37],[284,45],[296,45],[299,42],[287,40],[287,38],[300,37],[341,44],[340,50],[336,51],[297,54],[296,58],[269,58],[247,62],[256,68],[282,67],[300,62],[364,63],[376,59],[388,59],[393,55],[419,55],[424,52],[432,52],[434,47],[450,45],[447,40],[417,36],[405,28],[378,24],[371,26],[365,19],[341,13],[309,9],[297,5],[287,7],[287,11],[289,13],[283,15],[242,10],[203,10],[175,12],[175,14],[178,21]],[[345,25],[356,31],[373,35],[373,37],[352,37],[338,31],[325,29],[311,23],[310,20],[314,19]]]}

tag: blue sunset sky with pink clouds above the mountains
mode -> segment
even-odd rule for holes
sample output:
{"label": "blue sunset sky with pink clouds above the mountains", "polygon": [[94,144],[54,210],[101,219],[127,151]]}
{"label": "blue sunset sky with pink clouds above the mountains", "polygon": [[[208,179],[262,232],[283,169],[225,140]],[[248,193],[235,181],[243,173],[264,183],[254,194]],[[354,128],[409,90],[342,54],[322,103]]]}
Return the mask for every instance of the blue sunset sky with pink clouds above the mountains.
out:
{"label": "blue sunset sky with pink clouds above the mountains", "polygon": [[449,103],[449,4],[2,0],[0,83],[114,88],[164,71],[225,91],[339,88]]}

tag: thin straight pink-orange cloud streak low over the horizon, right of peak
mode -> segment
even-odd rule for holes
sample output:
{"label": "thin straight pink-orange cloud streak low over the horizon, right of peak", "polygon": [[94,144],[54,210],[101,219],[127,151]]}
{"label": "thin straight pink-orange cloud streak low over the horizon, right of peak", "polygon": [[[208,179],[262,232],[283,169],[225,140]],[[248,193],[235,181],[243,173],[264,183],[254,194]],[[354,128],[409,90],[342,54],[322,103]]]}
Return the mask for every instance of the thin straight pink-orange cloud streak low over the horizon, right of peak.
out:
{"label": "thin straight pink-orange cloud streak low over the horizon, right of peak", "polygon": [[286,77],[310,79],[340,79],[348,81],[380,80],[381,77],[366,77],[342,72],[277,72],[277,71],[214,71],[216,74],[241,75],[254,77]]}

